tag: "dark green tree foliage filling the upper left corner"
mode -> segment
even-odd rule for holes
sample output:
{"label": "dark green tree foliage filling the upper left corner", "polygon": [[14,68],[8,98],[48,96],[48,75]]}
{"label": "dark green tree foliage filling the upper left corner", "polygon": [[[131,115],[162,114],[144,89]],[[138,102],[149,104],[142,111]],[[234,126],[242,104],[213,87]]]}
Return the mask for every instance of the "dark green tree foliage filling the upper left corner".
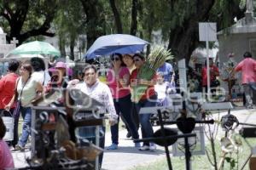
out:
{"label": "dark green tree foliage filling the upper left corner", "polygon": [[59,0],[2,0],[0,24],[7,33],[7,39],[17,37],[24,42],[33,36],[54,36],[48,31],[58,3]]}

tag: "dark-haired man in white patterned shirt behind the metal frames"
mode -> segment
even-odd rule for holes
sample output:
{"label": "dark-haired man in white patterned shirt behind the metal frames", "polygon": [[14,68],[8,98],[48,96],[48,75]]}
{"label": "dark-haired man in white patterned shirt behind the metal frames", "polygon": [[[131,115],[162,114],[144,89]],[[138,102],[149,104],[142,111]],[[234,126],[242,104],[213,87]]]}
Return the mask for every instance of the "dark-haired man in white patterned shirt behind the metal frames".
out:
{"label": "dark-haired man in white patterned shirt behind the metal frames", "polygon": [[[117,123],[118,115],[115,112],[113,105],[113,98],[108,88],[108,85],[100,82],[97,78],[96,67],[94,65],[88,65],[84,68],[84,82],[79,82],[79,80],[73,80],[68,83],[67,88],[75,88],[81,90],[84,94],[87,94],[92,99],[96,99],[98,102],[102,103],[101,107],[98,107],[99,112],[105,113],[108,111],[109,124],[112,126]],[[90,103],[90,102],[89,102]],[[89,105],[90,106],[90,105]],[[79,127],[79,137],[88,139],[94,144],[96,143],[96,127]],[[105,127],[102,127],[101,132],[105,133]],[[80,141],[83,143],[83,140]],[[100,147],[104,148],[105,135],[102,135],[100,139]],[[102,165],[103,155],[99,159],[99,167]]]}

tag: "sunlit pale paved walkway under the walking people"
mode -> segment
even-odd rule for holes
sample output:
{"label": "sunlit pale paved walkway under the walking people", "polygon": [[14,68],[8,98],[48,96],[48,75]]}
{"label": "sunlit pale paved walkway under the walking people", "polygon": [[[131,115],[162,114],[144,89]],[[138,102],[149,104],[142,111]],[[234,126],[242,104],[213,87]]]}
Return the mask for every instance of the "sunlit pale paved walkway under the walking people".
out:
{"label": "sunlit pale paved walkway under the walking people", "polygon": [[[220,114],[223,116],[227,114],[224,111]],[[237,116],[239,122],[256,123],[256,110],[236,110],[231,111],[231,114]],[[217,115],[215,115],[217,116]],[[154,130],[160,127],[154,127]],[[221,133],[224,133],[219,129]],[[121,130],[119,132],[119,150],[105,150],[103,156],[102,169],[104,170],[127,170],[137,165],[147,164],[152,161],[157,161],[165,158],[165,151],[163,147],[158,146],[154,152],[139,151],[134,148],[134,144],[131,140],[125,138],[126,131]],[[106,146],[111,144],[110,133],[106,133]],[[172,147],[170,147],[170,150]],[[15,167],[26,167],[26,157],[30,156],[30,151],[26,152],[13,152],[15,159]]]}

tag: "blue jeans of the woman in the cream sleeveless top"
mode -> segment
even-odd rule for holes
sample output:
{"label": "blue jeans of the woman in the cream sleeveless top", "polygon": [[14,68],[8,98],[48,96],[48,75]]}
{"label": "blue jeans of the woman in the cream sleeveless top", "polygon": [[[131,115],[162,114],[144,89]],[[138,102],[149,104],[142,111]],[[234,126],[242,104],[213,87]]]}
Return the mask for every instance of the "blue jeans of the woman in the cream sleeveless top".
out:
{"label": "blue jeans of the woman in the cream sleeveless top", "polygon": [[31,133],[32,110],[31,110],[31,107],[20,106],[20,112],[23,118],[23,125],[22,125],[22,134],[20,136],[18,144],[24,147],[26,145],[28,136]]}

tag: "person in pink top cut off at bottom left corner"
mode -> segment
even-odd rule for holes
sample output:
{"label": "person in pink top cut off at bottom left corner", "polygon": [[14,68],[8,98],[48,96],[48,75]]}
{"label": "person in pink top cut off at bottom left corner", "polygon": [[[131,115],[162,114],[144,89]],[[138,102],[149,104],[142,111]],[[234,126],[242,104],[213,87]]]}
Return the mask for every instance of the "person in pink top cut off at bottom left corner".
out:
{"label": "person in pink top cut off at bottom left corner", "polygon": [[3,124],[3,119],[0,116],[0,169],[14,168],[13,156],[9,151],[9,146],[3,141],[6,133],[6,127]]}

